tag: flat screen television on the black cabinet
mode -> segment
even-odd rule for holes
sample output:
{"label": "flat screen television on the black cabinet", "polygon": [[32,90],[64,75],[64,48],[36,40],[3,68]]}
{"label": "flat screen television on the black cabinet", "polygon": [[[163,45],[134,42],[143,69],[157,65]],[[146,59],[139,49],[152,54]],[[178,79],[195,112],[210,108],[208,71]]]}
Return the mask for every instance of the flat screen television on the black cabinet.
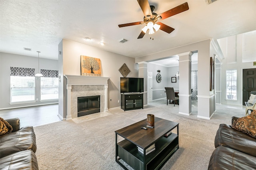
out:
{"label": "flat screen television on the black cabinet", "polygon": [[120,93],[144,92],[144,78],[120,77]]}

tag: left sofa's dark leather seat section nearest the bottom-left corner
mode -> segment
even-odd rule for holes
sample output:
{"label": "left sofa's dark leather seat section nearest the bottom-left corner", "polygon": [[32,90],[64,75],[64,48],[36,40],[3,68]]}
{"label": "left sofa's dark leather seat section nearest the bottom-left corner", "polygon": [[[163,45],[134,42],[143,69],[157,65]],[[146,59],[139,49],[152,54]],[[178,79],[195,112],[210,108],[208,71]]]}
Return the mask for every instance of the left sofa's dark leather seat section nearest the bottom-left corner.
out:
{"label": "left sofa's dark leather seat section nearest the bottom-left corner", "polygon": [[0,170],[38,170],[36,154],[23,150],[0,158]]}

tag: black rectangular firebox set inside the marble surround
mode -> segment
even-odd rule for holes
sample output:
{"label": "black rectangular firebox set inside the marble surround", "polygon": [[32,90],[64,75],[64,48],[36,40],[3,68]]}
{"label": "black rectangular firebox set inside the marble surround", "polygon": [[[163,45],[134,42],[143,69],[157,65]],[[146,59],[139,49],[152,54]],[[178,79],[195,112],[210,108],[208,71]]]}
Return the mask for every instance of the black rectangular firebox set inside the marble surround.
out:
{"label": "black rectangular firebox set inside the marble surround", "polygon": [[77,117],[100,112],[100,96],[77,98]]}

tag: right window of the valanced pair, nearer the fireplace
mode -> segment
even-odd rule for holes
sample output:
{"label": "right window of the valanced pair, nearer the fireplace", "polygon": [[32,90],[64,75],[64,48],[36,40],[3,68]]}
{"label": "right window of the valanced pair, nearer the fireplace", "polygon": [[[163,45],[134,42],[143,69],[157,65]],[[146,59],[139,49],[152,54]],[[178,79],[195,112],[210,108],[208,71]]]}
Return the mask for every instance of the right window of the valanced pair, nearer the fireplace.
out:
{"label": "right window of the valanced pair, nearer the fireplace", "polygon": [[42,70],[41,100],[56,100],[59,98],[59,79],[57,70]]}

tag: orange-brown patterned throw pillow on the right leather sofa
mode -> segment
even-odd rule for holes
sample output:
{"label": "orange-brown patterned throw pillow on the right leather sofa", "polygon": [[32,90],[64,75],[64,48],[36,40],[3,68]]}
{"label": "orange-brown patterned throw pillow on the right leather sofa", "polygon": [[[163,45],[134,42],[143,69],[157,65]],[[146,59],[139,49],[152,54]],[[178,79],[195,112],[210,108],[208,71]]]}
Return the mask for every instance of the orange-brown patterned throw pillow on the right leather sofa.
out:
{"label": "orange-brown patterned throw pillow on the right leather sofa", "polygon": [[233,122],[232,128],[256,138],[256,110],[246,117]]}

